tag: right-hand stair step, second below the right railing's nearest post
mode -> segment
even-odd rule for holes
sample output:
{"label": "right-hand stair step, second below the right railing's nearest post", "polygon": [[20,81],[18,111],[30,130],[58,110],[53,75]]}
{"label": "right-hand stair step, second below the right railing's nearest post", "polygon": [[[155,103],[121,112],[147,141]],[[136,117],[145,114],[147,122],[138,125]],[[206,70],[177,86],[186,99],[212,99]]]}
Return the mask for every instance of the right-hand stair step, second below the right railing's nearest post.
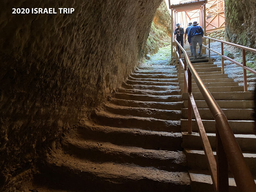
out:
{"label": "right-hand stair step, second below the right railing's nearest post", "polygon": [[[252,109],[254,108],[254,101],[232,101],[232,100],[220,100],[216,101],[220,108],[222,109]],[[208,108],[206,102],[204,100],[197,100],[196,101],[197,108]],[[188,101],[184,101],[184,108],[188,108]]]}

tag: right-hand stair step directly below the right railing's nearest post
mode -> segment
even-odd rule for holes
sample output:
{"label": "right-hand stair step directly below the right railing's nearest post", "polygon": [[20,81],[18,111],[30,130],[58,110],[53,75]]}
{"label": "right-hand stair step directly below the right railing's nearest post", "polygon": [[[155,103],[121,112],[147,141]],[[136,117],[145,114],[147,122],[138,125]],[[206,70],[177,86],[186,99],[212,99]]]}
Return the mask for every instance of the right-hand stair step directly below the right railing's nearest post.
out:
{"label": "right-hand stair step directly below the right railing's nearest post", "polygon": [[[192,93],[195,100],[204,100],[202,93]],[[212,92],[215,100],[254,100],[254,92]],[[182,93],[182,99],[188,100],[188,93]]]}

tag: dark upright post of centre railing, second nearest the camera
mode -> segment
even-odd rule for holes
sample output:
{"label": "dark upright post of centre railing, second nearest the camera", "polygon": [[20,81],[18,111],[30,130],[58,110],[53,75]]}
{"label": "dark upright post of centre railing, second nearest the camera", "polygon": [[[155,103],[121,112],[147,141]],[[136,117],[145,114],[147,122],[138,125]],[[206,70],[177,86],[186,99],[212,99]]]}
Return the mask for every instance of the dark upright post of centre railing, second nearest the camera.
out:
{"label": "dark upright post of centre railing, second nearest the camera", "polygon": [[192,94],[192,74],[188,68],[188,134],[192,134],[192,104],[190,94]]}

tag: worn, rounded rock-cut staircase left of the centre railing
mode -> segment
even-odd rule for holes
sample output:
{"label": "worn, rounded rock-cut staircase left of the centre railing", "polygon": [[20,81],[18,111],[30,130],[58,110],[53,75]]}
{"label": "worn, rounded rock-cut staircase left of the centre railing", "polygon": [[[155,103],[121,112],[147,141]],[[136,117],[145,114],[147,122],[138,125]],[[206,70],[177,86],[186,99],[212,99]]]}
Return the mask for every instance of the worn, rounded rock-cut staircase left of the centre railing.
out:
{"label": "worn, rounded rock-cut staircase left of the centre railing", "polygon": [[[175,66],[141,65],[41,167],[39,186],[68,191],[189,191]],[[44,182],[43,182],[44,181]]]}

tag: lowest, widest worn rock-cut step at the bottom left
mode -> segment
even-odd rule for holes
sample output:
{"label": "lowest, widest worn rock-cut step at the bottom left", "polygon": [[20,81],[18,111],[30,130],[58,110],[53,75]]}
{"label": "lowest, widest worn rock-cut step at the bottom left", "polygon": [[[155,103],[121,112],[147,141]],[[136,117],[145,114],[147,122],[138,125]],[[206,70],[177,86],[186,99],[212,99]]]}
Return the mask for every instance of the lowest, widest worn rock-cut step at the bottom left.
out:
{"label": "lowest, widest worn rock-cut step at the bottom left", "polygon": [[[41,182],[72,191],[189,191],[188,172],[167,172],[153,167],[114,162],[92,162],[55,152],[40,167]],[[86,187],[85,187],[86,186]]]}

